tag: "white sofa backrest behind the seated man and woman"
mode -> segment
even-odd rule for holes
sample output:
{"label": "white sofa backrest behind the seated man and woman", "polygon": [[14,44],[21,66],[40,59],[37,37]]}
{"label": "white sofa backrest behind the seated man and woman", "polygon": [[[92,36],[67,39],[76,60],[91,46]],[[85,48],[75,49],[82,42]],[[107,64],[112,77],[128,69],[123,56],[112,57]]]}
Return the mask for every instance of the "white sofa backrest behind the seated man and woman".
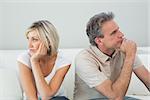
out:
{"label": "white sofa backrest behind the seated man and woman", "polygon": [[[77,53],[79,53],[82,50],[82,48],[60,49],[60,50],[64,53],[64,55],[67,58],[69,58],[69,60],[73,62],[74,57],[76,56]],[[10,69],[16,72],[17,79],[18,79],[19,70],[18,70],[16,59],[17,56],[24,51],[25,50],[0,50],[0,69]],[[148,69],[150,69],[150,61],[148,61],[148,59],[150,59],[149,51],[150,49],[148,49],[148,52],[146,50],[145,53],[145,48],[144,49],[139,48],[138,51],[139,57],[141,58],[142,62],[144,62],[144,65],[147,66]],[[69,69],[69,72],[67,73],[66,78],[63,82],[63,86],[67,89],[67,95],[71,100],[73,99],[73,93],[75,87],[74,82],[75,82],[75,66],[74,63],[72,63],[72,66]],[[18,91],[20,92],[20,90]],[[143,84],[135,77],[134,74],[132,75],[132,80],[129,86],[128,94],[150,95],[150,93],[147,91],[145,86],[143,86]]]}

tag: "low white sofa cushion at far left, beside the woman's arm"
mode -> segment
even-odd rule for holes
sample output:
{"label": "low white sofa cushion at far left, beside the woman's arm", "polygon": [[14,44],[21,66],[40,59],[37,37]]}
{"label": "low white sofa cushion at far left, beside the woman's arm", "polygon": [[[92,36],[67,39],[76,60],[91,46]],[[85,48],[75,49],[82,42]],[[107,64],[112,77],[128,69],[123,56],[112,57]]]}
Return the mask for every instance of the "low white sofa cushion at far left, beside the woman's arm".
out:
{"label": "low white sofa cushion at far left, beside the woman's arm", "polygon": [[14,70],[0,68],[0,100],[21,100],[22,90]]}

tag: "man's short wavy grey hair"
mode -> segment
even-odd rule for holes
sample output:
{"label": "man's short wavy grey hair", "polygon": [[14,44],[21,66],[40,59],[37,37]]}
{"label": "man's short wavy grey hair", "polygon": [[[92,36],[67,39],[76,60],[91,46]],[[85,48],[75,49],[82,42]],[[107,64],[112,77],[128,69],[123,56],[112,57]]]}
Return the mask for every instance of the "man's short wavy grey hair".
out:
{"label": "man's short wavy grey hair", "polygon": [[90,18],[86,26],[86,33],[87,36],[89,37],[89,41],[91,45],[97,46],[97,44],[95,43],[95,38],[104,37],[103,33],[101,32],[103,23],[110,21],[113,18],[114,18],[114,14],[112,12],[108,12],[108,13],[102,12]]}

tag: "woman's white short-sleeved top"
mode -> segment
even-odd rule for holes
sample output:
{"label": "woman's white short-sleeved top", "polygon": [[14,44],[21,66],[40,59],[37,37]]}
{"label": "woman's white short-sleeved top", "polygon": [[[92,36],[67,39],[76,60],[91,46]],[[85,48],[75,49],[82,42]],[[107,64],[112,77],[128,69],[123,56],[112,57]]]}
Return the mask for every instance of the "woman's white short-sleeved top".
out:
{"label": "woman's white short-sleeved top", "polygon": [[[24,65],[26,65],[27,67],[29,67],[30,69],[32,69],[31,66],[31,62],[30,62],[30,54],[29,51],[26,51],[22,54],[20,54],[17,58],[17,61],[23,63]],[[49,83],[51,81],[51,79],[54,77],[56,71],[66,65],[70,65],[71,61],[69,61],[61,51],[58,52],[56,61],[55,61],[55,65],[51,71],[51,73],[45,77],[45,80],[47,83]],[[67,96],[66,95],[66,90],[65,88],[61,85],[61,87],[59,88],[59,90],[57,91],[57,93],[55,94],[55,96]],[[40,97],[40,95],[38,94],[38,97]],[[24,98],[26,98],[25,94],[24,94]]]}

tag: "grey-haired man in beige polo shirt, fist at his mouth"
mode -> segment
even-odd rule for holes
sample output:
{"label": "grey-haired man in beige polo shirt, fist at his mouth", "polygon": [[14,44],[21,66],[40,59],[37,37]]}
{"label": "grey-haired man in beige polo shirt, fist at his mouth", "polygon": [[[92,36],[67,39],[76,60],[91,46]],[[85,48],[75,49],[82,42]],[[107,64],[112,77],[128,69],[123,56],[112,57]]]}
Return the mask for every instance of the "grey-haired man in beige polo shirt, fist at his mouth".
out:
{"label": "grey-haired man in beige polo shirt, fist at his mouth", "polygon": [[150,72],[136,56],[136,43],[124,37],[113,18],[112,12],[103,12],[87,24],[91,46],[75,59],[75,100],[129,100],[125,95],[132,72],[150,91]]}

